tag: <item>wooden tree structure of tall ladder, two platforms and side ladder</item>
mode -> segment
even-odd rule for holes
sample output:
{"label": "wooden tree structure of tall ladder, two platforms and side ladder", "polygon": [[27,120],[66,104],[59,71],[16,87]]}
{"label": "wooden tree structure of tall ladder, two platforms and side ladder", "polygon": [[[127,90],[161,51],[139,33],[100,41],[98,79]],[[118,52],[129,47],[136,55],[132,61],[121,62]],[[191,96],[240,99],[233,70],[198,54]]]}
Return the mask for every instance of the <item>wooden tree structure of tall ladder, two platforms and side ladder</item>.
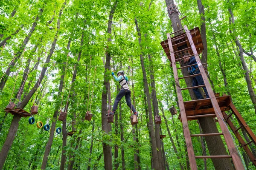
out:
{"label": "wooden tree structure of tall ladder, two platforms and side ladder", "polygon": [[[175,34],[173,37],[170,35]],[[201,54],[203,51],[203,43],[201,39],[201,34],[199,28],[193,28],[189,30],[187,26],[184,28],[173,32],[172,34],[167,34],[167,40],[161,42],[163,50],[165,51],[168,59],[171,62],[171,67],[173,68],[175,85],[177,90],[177,98],[178,105],[180,108],[180,116],[179,119],[183,125],[184,137],[186,140],[186,147],[188,150],[189,164],[192,170],[197,170],[197,163],[195,159],[224,159],[229,158],[232,159],[234,167],[236,170],[244,169],[243,163],[241,161],[241,154],[239,153],[238,147],[236,146],[236,142],[233,139],[227,125],[229,125],[230,129],[233,131],[237,140],[241,144],[241,147],[244,148],[244,151],[249,156],[250,160],[256,166],[256,157],[253,156],[252,151],[248,147],[248,144],[256,145],[256,136],[248,127],[247,123],[241,117],[240,113],[236,110],[235,106],[232,103],[231,96],[223,95],[217,96],[213,93],[211,85],[209,84],[209,80],[207,79],[207,70],[203,65],[207,65],[207,63],[201,63],[201,59],[198,54]],[[189,54],[189,55],[187,55]],[[204,56],[204,54],[202,54]],[[195,56],[196,63],[194,65],[198,65],[200,70],[200,74],[193,74],[190,76],[179,77],[177,71],[183,68],[188,68],[192,65],[183,66],[180,63],[185,58],[190,58]],[[180,64],[180,67],[177,67],[176,64]],[[195,77],[201,75],[203,77],[204,85],[192,86],[187,88],[181,88],[179,80],[186,79],[190,77]],[[182,90],[188,90],[193,88],[201,88],[205,86],[207,88],[209,98],[207,99],[197,99],[192,101],[183,101]],[[175,108],[170,108],[170,111],[173,113]],[[226,111],[231,111],[228,115]],[[239,122],[240,127],[236,127],[231,120],[235,120],[234,116]],[[233,117],[232,117],[233,116]],[[217,117],[216,122],[219,123],[221,133],[201,133],[201,134],[191,134],[188,128],[188,121],[198,120],[201,117]],[[227,125],[226,125],[227,124]],[[240,134],[241,129],[243,129],[247,136],[249,137],[249,141],[244,140],[242,138],[242,134]],[[229,150],[230,155],[210,155],[210,156],[195,156],[192,144],[192,137],[195,136],[224,136],[227,149]],[[239,156],[240,154],[240,156]]]}

